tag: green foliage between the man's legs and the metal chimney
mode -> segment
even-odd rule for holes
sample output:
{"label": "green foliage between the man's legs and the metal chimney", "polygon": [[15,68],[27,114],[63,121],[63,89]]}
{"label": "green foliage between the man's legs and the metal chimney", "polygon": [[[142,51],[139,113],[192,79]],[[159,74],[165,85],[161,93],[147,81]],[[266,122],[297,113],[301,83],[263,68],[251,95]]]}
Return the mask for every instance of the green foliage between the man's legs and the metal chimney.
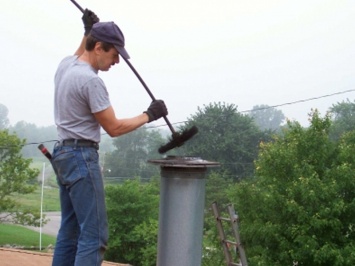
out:
{"label": "green foliage between the man's legs and the metal chimney", "polygon": [[106,259],[135,266],[155,265],[152,249],[156,251],[157,244],[157,185],[127,180],[121,185],[108,186],[106,199],[110,233]]}

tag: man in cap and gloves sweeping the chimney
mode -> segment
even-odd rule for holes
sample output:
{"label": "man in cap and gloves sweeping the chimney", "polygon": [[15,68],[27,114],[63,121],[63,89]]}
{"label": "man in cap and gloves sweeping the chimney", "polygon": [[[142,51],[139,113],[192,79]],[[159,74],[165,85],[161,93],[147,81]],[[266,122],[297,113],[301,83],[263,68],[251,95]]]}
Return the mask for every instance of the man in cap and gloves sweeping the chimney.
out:
{"label": "man in cap and gloves sweeping the chimney", "polygon": [[113,22],[83,14],[85,34],[74,56],[63,59],[55,75],[54,116],[59,141],[52,165],[60,190],[62,220],[53,266],[98,266],[107,247],[108,228],[98,148],[101,127],[116,137],[167,115],[163,101],[147,111],[117,119],[98,71],[129,58],[124,36]]}

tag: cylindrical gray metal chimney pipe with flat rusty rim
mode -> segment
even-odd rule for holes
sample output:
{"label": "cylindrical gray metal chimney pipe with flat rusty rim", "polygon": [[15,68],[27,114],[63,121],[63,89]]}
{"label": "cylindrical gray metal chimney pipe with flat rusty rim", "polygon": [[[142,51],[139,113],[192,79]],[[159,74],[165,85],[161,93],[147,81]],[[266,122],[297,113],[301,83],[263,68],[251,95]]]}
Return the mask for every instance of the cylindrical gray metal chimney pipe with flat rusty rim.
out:
{"label": "cylindrical gray metal chimney pipe with flat rusty rim", "polygon": [[205,183],[208,167],[195,157],[169,156],[160,165],[157,266],[200,266],[202,260]]}

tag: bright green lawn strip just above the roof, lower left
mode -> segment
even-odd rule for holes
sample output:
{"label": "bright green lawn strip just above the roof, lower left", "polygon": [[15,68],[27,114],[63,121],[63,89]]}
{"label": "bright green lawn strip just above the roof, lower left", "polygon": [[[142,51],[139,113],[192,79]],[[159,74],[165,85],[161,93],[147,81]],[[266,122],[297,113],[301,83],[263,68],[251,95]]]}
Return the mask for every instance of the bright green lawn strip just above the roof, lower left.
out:
{"label": "bright green lawn strip just above the roof, lower left", "polygon": [[[39,232],[12,224],[0,224],[0,246],[6,244],[39,249]],[[42,248],[55,245],[56,238],[42,234]]]}

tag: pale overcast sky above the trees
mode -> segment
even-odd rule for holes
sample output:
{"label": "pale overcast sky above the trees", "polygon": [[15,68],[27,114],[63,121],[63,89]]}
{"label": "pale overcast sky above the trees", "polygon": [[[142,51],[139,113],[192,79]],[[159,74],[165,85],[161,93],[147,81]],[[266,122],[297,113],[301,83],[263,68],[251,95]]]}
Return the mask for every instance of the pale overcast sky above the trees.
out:
{"label": "pale overcast sky above the trees", "polygon": [[[312,108],[324,115],[332,104],[354,101],[355,92],[345,91],[355,90],[355,1],[78,3],[119,25],[132,65],[165,101],[172,123],[212,102],[246,111],[319,98],[277,108],[306,124]],[[2,1],[0,103],[9,109],[11,125],[54,124],[53,77],[80,43],[81,16],[69,0]],[[100,76],[118,117],[135,116],[149,105],[123,60]]]}

